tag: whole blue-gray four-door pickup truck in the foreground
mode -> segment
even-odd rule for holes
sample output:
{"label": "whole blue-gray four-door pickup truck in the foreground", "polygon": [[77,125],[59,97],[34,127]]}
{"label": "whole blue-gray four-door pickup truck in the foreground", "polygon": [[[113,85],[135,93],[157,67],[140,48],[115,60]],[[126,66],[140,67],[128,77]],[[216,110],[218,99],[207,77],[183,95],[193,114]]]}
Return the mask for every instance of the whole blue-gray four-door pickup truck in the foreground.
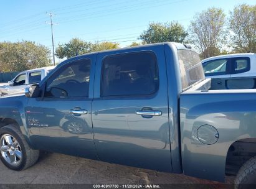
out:
{"label": "whole blue-gray four-door pickup truck in the foreground", "polygon": [[39,150],[225,181],[256,182],[256,90],[209,90],[199,55],[176,43],[65,60],[25,94],[0,98],[2,163]]}

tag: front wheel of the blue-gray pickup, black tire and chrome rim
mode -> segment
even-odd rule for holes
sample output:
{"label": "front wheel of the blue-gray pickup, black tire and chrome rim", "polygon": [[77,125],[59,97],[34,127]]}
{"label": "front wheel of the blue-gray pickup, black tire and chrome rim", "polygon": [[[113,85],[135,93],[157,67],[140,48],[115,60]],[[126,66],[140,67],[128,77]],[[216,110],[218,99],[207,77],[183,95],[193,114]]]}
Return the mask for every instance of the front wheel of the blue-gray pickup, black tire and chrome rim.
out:
{"label": "front wheel of the blue-gray pickup, black tire and chrome rim", "polygon": [[12,170],[24,170],[34,165],[39,158],[39,150],[29,147],[16,124],[0,129],[0,159]]}

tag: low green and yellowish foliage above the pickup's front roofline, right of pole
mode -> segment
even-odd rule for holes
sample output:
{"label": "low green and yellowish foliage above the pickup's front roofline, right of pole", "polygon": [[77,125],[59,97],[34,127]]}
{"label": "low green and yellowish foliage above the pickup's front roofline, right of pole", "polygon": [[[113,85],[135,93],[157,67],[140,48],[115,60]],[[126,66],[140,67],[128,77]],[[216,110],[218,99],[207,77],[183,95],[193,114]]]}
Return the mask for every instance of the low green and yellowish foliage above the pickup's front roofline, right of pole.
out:
{"label": "low green and yellowish foliage above the pickup's front roofline, right of pole", "polygon": [[70,58],[76,55],[82,55],[90,52],[119,48],[119,44],[112,42],[85,42],[84,40],[74,38],[68,43],[59,45],[55,50],[55,55],[59,58]]}

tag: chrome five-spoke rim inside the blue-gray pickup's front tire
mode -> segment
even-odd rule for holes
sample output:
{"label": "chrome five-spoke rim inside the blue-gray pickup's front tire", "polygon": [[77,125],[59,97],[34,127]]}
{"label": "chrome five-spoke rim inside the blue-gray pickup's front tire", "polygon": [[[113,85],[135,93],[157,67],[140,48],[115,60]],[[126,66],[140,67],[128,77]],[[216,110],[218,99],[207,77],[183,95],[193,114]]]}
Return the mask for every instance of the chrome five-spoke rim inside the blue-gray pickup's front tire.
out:
{"label": "chrome five-spoke rim inside the blue-gray pickup's front tire", "polygon": [[22,151],[19,142],[10,134],[4,134],[0,140],[1,155],[10,165],[17,166],[22,160]]}

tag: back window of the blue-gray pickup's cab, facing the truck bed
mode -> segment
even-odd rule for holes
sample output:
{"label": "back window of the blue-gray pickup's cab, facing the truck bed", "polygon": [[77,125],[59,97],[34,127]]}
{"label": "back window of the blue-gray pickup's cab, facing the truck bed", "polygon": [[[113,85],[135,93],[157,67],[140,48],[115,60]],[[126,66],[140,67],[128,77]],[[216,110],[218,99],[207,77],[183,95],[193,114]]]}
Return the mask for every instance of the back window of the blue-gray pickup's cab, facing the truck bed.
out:
{"label": "back window of the blue-gray pickup's cab, facing the truck bed", "polygon": [[178,59],[183,90],[197,81],[204,80],[199,54],[191,50],[178,50]]}

